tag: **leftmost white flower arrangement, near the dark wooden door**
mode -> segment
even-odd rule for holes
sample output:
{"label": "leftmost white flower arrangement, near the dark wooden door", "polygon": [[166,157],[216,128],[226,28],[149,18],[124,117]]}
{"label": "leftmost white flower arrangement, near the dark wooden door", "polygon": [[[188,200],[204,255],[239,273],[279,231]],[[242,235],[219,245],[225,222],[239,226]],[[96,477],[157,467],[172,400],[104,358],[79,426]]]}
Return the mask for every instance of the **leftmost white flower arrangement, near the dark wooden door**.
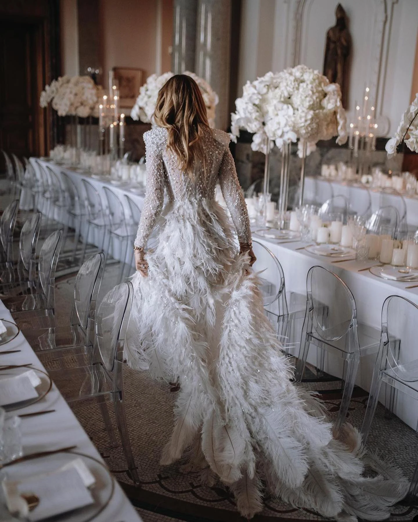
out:
{"label": "leftmost white flower arrangement, near the dark wooden door", "polygon": [[44,108],[52,102],[52,108],[59,116],[86,118],[94,114],[101,90],[90,76],[62,76],[45,86],[41,92],[40,106]]}

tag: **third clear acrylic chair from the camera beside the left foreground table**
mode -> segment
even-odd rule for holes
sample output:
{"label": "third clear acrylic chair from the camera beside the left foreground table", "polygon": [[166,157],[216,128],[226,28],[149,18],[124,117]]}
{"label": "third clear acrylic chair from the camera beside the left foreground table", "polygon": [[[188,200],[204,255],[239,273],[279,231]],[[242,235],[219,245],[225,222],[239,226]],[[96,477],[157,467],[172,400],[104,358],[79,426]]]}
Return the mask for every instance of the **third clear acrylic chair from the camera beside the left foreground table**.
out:
{"label": "third clear acrylic chair from the camera beside the left foreground table", "polygon": [[56,230],[44,241],[39,252],[37,281],[20,282],[8,292],[9,296],[2,297],[3,304],[14,318],[34,313],[39,317],[47,317],[48,325],[55,326],[55,269],[61,237],[62,231]]}

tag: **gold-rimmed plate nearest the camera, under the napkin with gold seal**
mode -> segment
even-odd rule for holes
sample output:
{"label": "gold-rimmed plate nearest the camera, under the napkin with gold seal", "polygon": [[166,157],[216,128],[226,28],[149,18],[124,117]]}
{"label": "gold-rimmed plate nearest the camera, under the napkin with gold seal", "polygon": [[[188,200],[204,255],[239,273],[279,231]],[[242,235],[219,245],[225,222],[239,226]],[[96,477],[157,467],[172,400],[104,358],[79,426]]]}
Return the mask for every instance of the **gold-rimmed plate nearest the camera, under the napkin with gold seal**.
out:
{"label": "gold-rimmed plate nearest the camera, under the napkin with gold seal", "polygon": [[[48,518],[48,522],[58,522],[58,520],[59,522],[89,522],[97,517],[103,509],[108,506],[115,490],[115,482],[109,470],[102,464],[102,462],[90,457],[89,455],[71,451],[23,460],[22,462],[10,464],[5,467],[4,470],[0,472],[0,482],[4,480],[6,476],[7,480],[15,481],[38,473],[52,472],[65,466],[76,458],[81,458],[83,460],[84,464],[88,467],[90,473],[95,479],[95,483],[91,488],[89,488],[94,503],[86,507],[75,509],[74,511],[50,517]],[[3,488],[0,488],[0,503],[3,505],[5,503]],[[0,507],[0,512],[2,511],[2,508],[5,509],[3,505]],[[18,519],[10,516],[9,520],[11,522],[12,520]],[[9,520],[6,520],[5,522],[9,522]]]}

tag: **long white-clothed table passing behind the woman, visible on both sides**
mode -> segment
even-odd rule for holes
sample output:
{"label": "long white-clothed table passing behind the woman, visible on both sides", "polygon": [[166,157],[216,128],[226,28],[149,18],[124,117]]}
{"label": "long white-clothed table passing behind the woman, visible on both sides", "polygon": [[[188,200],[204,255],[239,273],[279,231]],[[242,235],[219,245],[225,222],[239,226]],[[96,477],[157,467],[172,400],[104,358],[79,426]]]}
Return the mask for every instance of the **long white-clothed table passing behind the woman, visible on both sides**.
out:
{"label": "long white-clothed table passing behind the woman, visible on both sides", "polygon": [[[91,176],[87,173],[82,173],[68,167],[62,167],[61,165],[55,165],[50,161],[46,161],[44,163],[50,165],[50,167],[57,172],[59,172],[59,170],[65,170],[65,172],[71,176],[71,179],[73,179],[73,181],[78,185],[81,184],[81,179],[85,177],[97,187],[99,192],[102,192],[103,186],[109,186],[120,197],[122,203],[124,204],[127,217],[129,216],[129,211],[127,208],[127,203],[124,201],[124,194],[128,194],[130,197],[132,197],[138,206],[142,208],[144,196],[133,194],[130,192],[129,186],[116,187],[106,179],[92,179]],[[315,180],[315,183],[318,182],[321,183],[322,180]],[[361,191],[363,189],[359,187],[358,190]],[[418,200],[412,201],[418,205]],[[412,208],[410,218],[418,223],[418,208]],[[411,222],[410,219],[409,221]],[[376,276],[373,276],[368,270],[359,272],[359,269],[372,266],[376,262],[371,261],[367,263],[360,263],[354,260],[334,264],[328,260],[329,258],[309,254],[306,250],[296,250],[306,245],[302,242],[278,242],[271,239],[260,238],[256,233],[254,233],[253,239],[265,244],[279,259],[283,267],[286,290],[288,291],[303,293],[306,295],[306,275],[309,268],[314,265],[324,266],[325,268],[335,272],[345,283],[348,284],[354,295],[357,307],[357,319],[360,322],[376,329],[380,330],[381,307],[384,300],[389,295],[401,295],[418,305],[418,288],[405,289],[406,286],[409,286],[409,284],[412,283],[408,284],[380,279]],[[94,239],[94,241],[97,245],[101,244],[98,238]],[[121,259],[120,252],[121,250],[113,250],[112,255],[118,259]],[[258,269],[262,269],[262,260],[259,259],[256,266]],[[293,353],[296,355],[298,353],[298,346],[300,342],[299,331],[302,327],[302,322],[303,321],[301,320],[296,323],[296,327],[298,327],[299,330],[298,328],[295,329],[296,334],[292,339],[292,341],[296,343],[296,346],[293,348]],[[410,342],[408,342],[408,346],[403,346],[402,349],[410,352],[411,354],[416,352],[415,358],[418,359],[418,346],[414,337],[412,337]],[[371,384],[375,358],[376,355],[371,354],[362,357],[360,361],[356,384],[361,386],[363,389],[366,389],[367,391],[369,390]],[[308,362],[313,364],[316,363],[316,350],[309,350]],[[324,370],[332,375],[341,377],[341,360],[336,360],[335,357],[326,358]],[[380,396],[380,399],[381,402],[385,402],[383,394]],[[412,426],[414,429],[416,428],[416,421],[418,419],[418,405],[416,404],[416,401],[402,394],[398,394],[395,404],[395,413],[404,422]]]}

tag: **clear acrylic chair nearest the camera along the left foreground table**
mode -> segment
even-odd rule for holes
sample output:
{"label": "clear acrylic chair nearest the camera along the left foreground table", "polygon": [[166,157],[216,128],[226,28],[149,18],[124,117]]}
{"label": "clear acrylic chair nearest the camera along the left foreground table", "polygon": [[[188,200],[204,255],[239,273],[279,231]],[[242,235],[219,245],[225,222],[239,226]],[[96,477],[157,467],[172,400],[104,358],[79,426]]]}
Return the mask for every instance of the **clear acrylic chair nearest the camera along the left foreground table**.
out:
{"label": "clear acrylic chair nearest the camera along the left foreground table", "polygon": [[67,402],[96,399],[112,441],[112,424],[105,402],[111,401],[130,476],[139,482],[126,424],[123,386],[123,346],[133,300],[130,281],[118,284],[104,296],[94,320],[94,362],[49,372]]}

